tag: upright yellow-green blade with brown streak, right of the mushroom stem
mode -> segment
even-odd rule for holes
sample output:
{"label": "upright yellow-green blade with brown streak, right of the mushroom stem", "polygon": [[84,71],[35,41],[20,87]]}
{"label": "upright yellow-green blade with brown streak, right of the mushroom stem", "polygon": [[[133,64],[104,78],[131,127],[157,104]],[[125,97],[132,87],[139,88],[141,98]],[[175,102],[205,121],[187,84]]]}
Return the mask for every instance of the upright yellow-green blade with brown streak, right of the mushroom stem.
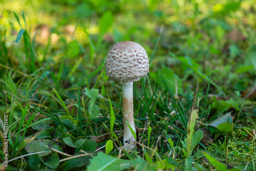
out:
{"label": "upright yellow-green blade with brown streak, right of the mushroom stem", "polygon": [[190,119],[188,121],[187,127],[187,153],[191,154],[191,143],[192,137],[194,134],[195,124],[198,118],[198,107],[195,106],[195,109],[192,111]]}

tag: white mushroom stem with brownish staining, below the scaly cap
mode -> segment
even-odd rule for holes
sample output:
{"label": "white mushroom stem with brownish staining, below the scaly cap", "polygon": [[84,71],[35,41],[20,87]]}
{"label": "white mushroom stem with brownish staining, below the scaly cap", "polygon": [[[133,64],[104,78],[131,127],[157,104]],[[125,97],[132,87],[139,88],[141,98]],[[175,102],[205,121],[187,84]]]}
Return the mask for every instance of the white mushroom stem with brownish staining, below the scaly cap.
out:
{"label": "white mushroom stem with brownish staining, below the scaly cap", "polygon": [[[131,144],[135,142],[135,138],[130,131],[127,121],[135,131],[134,114],[133,114],[133,82],[123,82],[123,144]],[[126,147],[132,149],[136,145]]]}

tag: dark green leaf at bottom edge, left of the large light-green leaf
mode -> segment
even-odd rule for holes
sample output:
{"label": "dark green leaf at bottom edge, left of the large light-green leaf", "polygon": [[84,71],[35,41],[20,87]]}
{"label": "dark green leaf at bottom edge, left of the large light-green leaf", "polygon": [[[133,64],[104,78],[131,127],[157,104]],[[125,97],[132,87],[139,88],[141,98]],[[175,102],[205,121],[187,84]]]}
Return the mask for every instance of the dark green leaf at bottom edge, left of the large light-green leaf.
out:
{"label": "dark green leaf at bottom edge, left of the large light-green leaf", "polygon": [[[77,155],[84,155],[84,153],[81,153],[81,152],[75,153],[73,156],[77,156]],[[82,166],[88,165],[90,163],[89,159],[92,159],[92,156],[88,155],[88,156],[81,156],[81,157],[70,159],[68,160],[64,171],[72,170],[71,168],[73,167],[82,167]],[[86,169],[84,168],[83,170],[86,170]]]}

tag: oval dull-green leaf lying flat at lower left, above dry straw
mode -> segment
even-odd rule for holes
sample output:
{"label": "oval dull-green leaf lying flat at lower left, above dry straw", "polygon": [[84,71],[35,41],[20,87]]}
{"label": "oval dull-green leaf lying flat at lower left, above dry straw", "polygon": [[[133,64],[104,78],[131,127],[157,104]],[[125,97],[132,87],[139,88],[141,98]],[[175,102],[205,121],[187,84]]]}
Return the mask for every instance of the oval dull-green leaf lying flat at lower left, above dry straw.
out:
{"label": "oval dull-green leaf lying flat at lower left, above dry straw", "polygon": [[46,146],[48,146],[52,141],[48,139],[38,139],[29,142],[25,149],[28,153],[36,153],[36,152],[46,152],[46,153],[39,153],[39,157],[49,155],[52,153],[52,150]]}

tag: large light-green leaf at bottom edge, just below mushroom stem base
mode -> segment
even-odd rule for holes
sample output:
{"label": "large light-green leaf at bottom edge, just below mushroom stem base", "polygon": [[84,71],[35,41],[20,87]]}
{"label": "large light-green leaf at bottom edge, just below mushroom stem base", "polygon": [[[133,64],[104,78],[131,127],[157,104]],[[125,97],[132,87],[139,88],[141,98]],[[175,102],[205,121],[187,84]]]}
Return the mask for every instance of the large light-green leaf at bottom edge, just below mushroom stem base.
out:
{"label": "large light-green leaf at bottom edge, just below mushroom stem base", "polygon": [[98,155],[90,161],[91,163],[87,167],[87,170],[90,171],[124,170],[131,167],[129,160],[118,159],[102,152],[99,152]]}

